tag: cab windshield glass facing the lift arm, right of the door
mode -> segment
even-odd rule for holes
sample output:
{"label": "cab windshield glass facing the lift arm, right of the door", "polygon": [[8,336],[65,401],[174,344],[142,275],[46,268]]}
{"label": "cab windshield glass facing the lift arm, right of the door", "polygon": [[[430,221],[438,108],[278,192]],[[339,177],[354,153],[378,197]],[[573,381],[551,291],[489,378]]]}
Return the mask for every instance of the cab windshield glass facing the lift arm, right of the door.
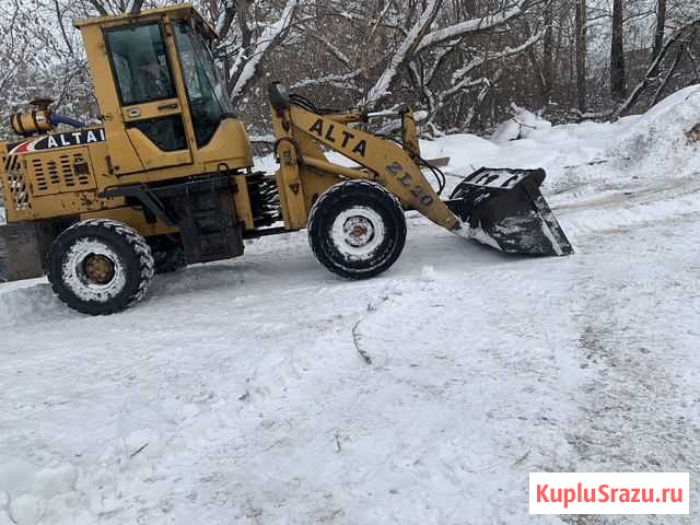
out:
{"label": "cab windshield glass facing the lift arm, right of the door", "polygon": [[211,140],[221,120],[233,108],[215,67],[210,40],[186,21],[175,24],[175,38],[187,85],[195,137],[197,145],[201,148]]}

